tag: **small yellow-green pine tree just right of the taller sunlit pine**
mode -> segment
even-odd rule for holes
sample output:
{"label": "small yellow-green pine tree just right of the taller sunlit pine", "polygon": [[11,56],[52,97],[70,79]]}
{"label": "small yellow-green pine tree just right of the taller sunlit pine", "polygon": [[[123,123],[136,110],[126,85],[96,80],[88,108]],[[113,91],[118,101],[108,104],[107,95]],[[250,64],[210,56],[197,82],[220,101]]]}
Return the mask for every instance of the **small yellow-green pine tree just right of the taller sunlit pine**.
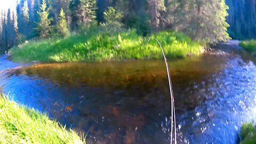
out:
{"label": "small yellow-green pine tree just right of the taller sunlit pine", "polygon": [[58,33],[63,37],[66,37],[70,34],[68,30],[68,23],[66,20],[65,12],[63,9],[60,10],[57,29]]}

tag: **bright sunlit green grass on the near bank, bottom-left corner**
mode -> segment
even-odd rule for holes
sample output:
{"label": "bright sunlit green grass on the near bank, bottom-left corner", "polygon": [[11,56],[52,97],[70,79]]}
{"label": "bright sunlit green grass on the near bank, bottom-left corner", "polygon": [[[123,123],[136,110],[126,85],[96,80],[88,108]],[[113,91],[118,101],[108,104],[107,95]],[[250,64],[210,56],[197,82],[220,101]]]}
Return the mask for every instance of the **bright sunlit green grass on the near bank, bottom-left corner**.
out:
{"label": "bright sunlit green grass on the near bank, bottom-left corner", "polygon": [[0,97],[0,143],[85,143],[35,109]]}

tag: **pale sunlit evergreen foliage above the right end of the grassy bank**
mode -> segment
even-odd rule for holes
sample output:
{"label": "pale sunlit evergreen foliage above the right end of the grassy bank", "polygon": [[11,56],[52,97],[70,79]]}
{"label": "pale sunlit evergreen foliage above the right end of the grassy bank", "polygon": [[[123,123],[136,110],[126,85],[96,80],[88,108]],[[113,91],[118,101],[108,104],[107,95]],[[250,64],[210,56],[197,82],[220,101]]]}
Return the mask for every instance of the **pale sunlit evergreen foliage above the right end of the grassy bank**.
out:
{"label": "pale sunlit evergreen foliage above the right end of the grassy bank", "polygon": [[204,42],[230,39],[226,22],[228,6],[224,0],[173,0],[168,5],[166,17],[174,29]]}

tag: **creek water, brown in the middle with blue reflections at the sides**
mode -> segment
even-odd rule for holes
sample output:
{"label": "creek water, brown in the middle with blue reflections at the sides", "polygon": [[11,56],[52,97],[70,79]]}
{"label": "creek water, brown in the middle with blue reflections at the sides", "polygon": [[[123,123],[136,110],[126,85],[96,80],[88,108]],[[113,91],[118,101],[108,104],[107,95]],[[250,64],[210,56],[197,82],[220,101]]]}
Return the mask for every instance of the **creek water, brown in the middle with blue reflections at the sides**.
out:
{"label": "creek water, brown in the middle with blue reflections at the sides", "polygon": [[[256,65],[215,50],[169,61],[178,143],[237,143],[256,119]],[[87,143],[170,143],[171,100],[164,62],[22,65],[1,58],[0,88],[77,132]]]}

